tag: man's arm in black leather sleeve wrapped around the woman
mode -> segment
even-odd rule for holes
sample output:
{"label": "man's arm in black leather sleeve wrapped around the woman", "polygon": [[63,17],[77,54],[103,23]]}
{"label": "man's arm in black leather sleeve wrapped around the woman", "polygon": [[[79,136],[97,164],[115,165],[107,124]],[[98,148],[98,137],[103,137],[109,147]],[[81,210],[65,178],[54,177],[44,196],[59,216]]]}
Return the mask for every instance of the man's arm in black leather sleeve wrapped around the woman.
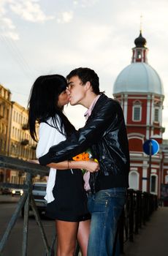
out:
{"label": "man's arm in black leather sleeve wrapped around the woman", "polygon": [[[96,103],[97,105],[98,103]],[[94,108],[96,108],[96,105]],[[52,146],[47,154],[39,157],[40,165],[47,165],[50,162],[60,162],[70,159],[77,154],[80,154],[90,148],[97,141],[101,140],[104,132],[110,129],[118,129],[121,121],[118,121],[122,116],[122,109],[118,102],[107,99],[99,105],[99,108],[94,110],[92,118],[86,122],[85,127],[80,128],[77,132],[66,140]]]}

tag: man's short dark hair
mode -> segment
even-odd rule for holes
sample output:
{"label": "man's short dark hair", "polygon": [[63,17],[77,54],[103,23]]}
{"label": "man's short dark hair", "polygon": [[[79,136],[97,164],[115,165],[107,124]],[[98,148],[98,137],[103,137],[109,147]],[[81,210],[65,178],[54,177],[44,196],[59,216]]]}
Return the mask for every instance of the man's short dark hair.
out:
{"label": "man's short dark hair", "polygon": [[73,69],[69,75],[66,76],[66,79],[69,80],[74,76],[80,78],[83,84],[90,82],[93,92],[97,95],[100,94],[99,77],[93,69],[89,69],[88,67],[78,67],[77,69]]}

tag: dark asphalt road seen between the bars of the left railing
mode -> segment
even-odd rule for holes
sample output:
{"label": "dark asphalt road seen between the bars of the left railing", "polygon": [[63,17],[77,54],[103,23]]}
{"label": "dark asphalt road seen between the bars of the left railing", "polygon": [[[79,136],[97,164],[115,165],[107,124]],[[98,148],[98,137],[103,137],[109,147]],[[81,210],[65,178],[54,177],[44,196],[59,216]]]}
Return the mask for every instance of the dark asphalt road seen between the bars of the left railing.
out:
{"label": "dark asphalt road seen between the bars of the left railing", "polygon": [[[17,202],[20,197],[12,197],[11,195],[0,195],[0,238],[2,238],[7,224],[15,211]],[[55,230],[55,222],[53,220],[42,217],[42,224],[45,229],[48,244],[51,243]],[[4,247],[3,256],[21,256],[23,241],[23,218],[18,218],[9,240]],[[28,253],[31,256],[45,256],[45,246],[42,236],[33,214],[29,217],[28,225]]]}

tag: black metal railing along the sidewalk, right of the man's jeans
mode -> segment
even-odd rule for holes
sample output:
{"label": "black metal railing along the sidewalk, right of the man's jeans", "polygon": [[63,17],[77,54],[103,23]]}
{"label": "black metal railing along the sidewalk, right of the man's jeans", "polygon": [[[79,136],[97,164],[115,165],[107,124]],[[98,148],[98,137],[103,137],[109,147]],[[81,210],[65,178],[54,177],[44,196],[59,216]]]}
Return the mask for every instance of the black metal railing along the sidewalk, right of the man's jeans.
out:
{"label": "black metal railing along the sidewalk, right of the man's jeans", "polygon": [[142,225],[150,219],[153,211],[158,208],[158,197],[148,192],[127,189],[127,201],[119,222],[119,238],[121,253],[124,252],[126,241],[134,241]]}

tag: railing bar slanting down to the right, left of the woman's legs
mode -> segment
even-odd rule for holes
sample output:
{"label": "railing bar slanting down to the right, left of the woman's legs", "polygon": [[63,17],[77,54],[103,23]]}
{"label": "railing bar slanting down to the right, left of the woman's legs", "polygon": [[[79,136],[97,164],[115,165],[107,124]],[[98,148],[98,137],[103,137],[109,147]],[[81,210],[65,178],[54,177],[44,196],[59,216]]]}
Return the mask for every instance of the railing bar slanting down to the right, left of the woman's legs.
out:
{"label": "railing bar slanting down to the right, left of the woman's legs", "polygon": [[45,245],[45,250],[46,250],[47,255],[48,255],[49,251],[50,251],[50,247],[49,247],[49,245],[47,243],[47,237],[45,236],[45,230],[44,230],[44,227],[42,225],[41,219],[39,217],[39,212],[37,210],[37,206],[36,206],[36,204],[34,202],[34,197],[33,196],[31,196],[31,208],[34,211],[34,217],[35,217],[35,219],[37,221],[37,224],[39,225],[39,230],[41,231],[41,234],[42,234],[42,241],[43,241],[43,243]]}

